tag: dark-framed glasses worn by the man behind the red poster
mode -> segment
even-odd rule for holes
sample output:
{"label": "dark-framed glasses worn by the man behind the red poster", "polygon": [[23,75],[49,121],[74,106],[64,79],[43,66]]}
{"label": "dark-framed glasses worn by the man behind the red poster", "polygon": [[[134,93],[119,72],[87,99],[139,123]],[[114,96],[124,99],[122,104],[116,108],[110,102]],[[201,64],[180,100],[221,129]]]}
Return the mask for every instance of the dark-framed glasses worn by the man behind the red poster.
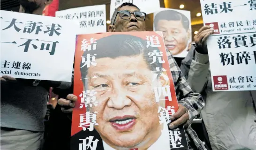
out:
{"label": "dark-framed glasses worn by the man behind the red poster", "polygon": [[[136,11],[136,12],[129,12],[128,10],[121,10],[121,11],[118,11],[117,14],[120,15],[120,17],[123,19],[123,20],[128,20],[131,18],[132,14],[135,16],[135,18],[137,20],[145,20],[146,19],[146,13],[143,13],[143,12],[140,12],[140,11]],[[116,14],[116,16],[117,16]],[[115,19],[114,19],[114,23],[115,23],[115,20],[116,20],[116,16],[115,16]],[[113,23],[113,25],[114,25]]]}

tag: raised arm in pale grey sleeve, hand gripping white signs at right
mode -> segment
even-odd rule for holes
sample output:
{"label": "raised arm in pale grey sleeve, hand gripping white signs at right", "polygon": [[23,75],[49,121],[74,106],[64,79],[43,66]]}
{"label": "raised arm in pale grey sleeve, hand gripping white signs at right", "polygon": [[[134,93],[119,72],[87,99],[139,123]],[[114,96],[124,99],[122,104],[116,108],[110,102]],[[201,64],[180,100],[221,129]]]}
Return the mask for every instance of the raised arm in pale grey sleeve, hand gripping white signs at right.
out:
{"label": "raised arm in pale grey sleeve, hand gripping white signs at right", "polygon": [[202,27],[194,37],[187,57],[181,62],[181,71],[194,92],[201,93],[208,82],[209,57],[205,40],[212,34],[209,26]]}

